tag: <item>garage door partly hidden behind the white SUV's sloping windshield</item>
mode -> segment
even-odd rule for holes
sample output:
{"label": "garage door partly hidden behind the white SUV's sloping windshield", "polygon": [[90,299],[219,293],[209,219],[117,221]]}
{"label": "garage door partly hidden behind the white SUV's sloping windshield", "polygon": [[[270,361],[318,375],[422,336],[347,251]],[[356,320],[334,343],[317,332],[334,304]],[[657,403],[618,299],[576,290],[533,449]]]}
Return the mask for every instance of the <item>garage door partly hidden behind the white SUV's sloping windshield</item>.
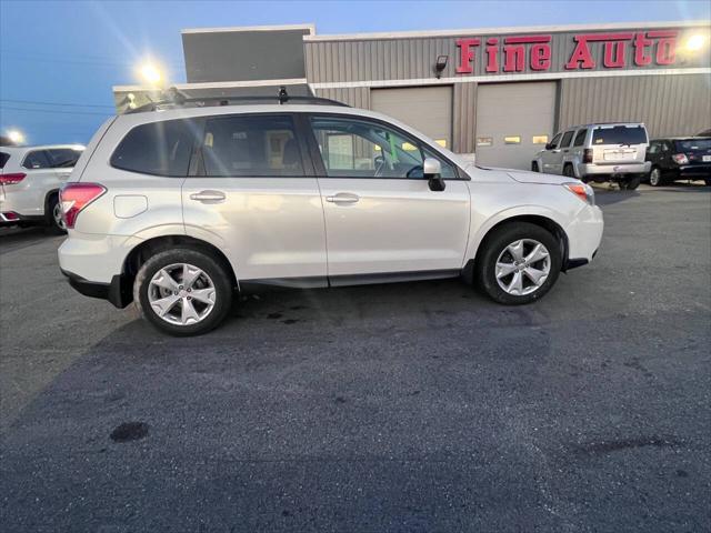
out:
{"label": "garage door partly hidden behind the white SUV's sloping windshield", "polygon": [[370,105],[373,111],[404,122],[451,149],[451,87],[373,89],[370,92]]}

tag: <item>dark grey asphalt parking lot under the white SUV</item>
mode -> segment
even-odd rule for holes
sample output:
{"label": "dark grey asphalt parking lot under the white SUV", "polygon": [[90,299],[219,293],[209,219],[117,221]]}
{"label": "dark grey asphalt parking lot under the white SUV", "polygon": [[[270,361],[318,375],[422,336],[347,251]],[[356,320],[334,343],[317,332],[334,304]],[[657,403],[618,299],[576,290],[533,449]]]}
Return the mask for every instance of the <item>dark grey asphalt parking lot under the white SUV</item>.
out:
{"label": "dark grey asphalt parking lot under the white SUV", "polygon": [[711,188],[598,201],[597,260],[533,305],[284,291],[194,339],[4,230],[2,530],[709,531]]}

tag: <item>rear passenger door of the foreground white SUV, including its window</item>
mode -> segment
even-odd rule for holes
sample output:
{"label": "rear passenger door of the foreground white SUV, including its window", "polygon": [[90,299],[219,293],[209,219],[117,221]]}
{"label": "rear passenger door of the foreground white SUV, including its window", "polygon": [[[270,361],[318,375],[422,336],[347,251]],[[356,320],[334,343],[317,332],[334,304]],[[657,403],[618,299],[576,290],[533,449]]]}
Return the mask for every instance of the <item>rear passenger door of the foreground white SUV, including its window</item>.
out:
{"label": "rear passenger door of the foreground white SUV, including its window", "polygon": [[324,285],[319,184],[298,115],[204,119],[182,187],[186,231],[218,242],[238,281]]}

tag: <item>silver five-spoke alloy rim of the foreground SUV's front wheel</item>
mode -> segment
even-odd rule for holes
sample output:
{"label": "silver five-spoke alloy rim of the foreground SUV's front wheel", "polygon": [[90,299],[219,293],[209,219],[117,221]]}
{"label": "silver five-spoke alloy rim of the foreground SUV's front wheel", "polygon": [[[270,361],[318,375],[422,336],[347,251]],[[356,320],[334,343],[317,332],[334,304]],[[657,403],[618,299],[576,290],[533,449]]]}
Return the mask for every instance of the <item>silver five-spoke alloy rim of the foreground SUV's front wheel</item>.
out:
{"label": "silver five-spoke alloy rim of the foreground SUV's front wheel", "polygon": [[505,247],[497,259],[497,282],[508,294],[521,296],[540,289],[551,271],[548,249],[533,239]]}

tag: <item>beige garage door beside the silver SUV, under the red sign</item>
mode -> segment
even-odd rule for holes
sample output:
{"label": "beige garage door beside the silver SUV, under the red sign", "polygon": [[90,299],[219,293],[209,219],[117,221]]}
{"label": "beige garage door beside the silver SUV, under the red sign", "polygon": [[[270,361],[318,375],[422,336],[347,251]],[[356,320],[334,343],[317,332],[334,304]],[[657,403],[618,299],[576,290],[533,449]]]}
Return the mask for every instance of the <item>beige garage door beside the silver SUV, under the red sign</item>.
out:
{"label": "beige garage door beside the silver SUV, under the red sign", "polygon": [[477,89],[477,162],[530,169],[553,133],[555,82],[482,83]]}

